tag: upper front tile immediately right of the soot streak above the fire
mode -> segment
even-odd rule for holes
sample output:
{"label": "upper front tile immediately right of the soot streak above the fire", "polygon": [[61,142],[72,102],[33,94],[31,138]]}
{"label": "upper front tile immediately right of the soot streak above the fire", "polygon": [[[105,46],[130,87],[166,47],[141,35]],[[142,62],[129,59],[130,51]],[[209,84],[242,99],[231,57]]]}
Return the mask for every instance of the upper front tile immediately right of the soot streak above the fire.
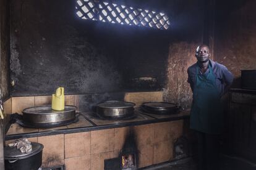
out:
{"label": "upper front tile immediately right of the soot streak above the fire", "polygon": [[137,145],[153,145],[154,142],[154,124],[145,124],[134,126]]}

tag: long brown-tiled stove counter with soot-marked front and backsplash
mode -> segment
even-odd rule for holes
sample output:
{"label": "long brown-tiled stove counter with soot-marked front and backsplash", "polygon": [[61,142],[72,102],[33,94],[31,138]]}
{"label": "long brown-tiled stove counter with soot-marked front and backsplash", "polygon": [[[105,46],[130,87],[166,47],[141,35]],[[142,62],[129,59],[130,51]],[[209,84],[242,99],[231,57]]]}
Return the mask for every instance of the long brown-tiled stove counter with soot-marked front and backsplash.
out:
{"label": "long brown-tiled stove counter with soot-marked front and backsplash", "polygon": [[[177,138],[187,132],[189,111],[161,116],[143,114],[136,108],[135,119],[102,120],[93,117],[92,112],[87,112],[90,105],[99,100],[124,100],[134,102],[139,107],[143,102],[162,102],[163,92],[66,95],[65,104],[75,105],[79,111],[77,123],[48,129],[12,124],[6,134],[6,144],[20,137],[28,137],[32,142],[43,144],[45,168],[65,164],[67,170],[103,170],[104,160],[117,157],[127,132],[133,129],[140,168],[173,160],[173,145]],[[4,108],[6,114],[22,114],[24,108],[48,104],[51,104],[51,96],[11,97],[4,102]]]}

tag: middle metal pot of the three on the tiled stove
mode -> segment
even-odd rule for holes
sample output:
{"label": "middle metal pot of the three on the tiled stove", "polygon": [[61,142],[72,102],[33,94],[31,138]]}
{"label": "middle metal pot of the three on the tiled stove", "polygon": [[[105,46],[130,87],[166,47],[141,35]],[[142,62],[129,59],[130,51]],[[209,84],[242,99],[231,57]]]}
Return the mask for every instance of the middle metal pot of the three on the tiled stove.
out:
{"label": "middle metal pot of the three on the tiled stove", "polygon": [[99,103],[96,113],[103,118],[121,119],[134,115],[135,103],[110,100]]}

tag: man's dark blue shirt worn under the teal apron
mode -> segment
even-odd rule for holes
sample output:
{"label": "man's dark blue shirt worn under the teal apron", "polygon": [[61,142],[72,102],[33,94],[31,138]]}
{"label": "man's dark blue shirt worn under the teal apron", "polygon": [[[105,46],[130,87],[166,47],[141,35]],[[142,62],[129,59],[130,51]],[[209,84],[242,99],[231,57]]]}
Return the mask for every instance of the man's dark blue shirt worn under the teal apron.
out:
{"label": "man's dark blue shirt worn under the teal apron", "polygon": [[[218,88],[220,96],[222,96],[228,91],[234,77],[232,73],[228,71],[228,68],[226,68],[224,65],[221,65],[220,63],[209,60],[209,65],[211,65],[211,67],[213,68],[213,73],[216,78],[216,86]],[[205,73],[203,73],[203,75],[208,75],[208,73],[209,68],[207,69],[207,71],[205,71]],[[187,74],[189,75],[187,82],[190,84],[190,87],[193,91],[195,86],[195,75],[197,74],[197,63],[194,63],[194,65],[191,65],[189,68],[187,68]],[[201,71],[200,74],[202,74]]]}

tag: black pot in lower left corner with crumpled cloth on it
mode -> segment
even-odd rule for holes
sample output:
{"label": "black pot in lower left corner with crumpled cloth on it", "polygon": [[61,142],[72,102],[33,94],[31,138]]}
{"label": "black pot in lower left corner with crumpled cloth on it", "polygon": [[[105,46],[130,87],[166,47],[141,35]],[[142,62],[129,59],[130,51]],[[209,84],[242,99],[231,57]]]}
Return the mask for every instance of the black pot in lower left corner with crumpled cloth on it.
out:
{"label": "black pot in lower left corner with crumpled cloth on it", "polygon": [[6,170],[38,170],[42,164],[43,145],[32,142],[32,152],[21,153],[16,147],[4,148]]}

